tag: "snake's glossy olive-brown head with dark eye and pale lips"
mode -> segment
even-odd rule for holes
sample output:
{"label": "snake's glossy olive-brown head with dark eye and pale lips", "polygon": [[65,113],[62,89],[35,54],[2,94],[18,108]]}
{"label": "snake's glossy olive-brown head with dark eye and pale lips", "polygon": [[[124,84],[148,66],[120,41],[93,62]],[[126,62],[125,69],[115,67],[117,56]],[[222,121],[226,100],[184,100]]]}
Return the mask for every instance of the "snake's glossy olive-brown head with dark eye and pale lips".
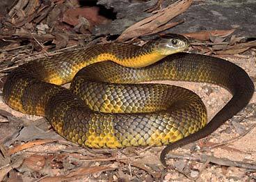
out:
{"label": "snake's glossy olive-brown head with dark eye and pale lips", "polygon": [[170,55],[184,51],[189,47],[189,40],[182,35],[168,34],[152,41],[152,51],[157,51],[161,55]]}

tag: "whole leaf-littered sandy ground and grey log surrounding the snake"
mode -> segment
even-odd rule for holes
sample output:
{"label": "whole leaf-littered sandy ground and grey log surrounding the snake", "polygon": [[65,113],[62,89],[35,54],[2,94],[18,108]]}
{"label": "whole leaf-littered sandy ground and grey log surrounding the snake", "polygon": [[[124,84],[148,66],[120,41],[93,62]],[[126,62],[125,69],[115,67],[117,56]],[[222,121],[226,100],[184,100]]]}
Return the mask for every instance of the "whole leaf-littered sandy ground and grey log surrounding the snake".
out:
{"label": "whole leaf-littered sandy ground and grey log surrounding the snake", "polygon": [[[26,61],[111,40],[143,44],[166,31],[184,33],[192,40],[190,51],[230,60],[256,83],[253,1],[12,1],[15,6],[0,3],[8,7],[0,10],[0,88],[3,76]],[[206,83],[160,83],[197,93],[209,120],[232,97]],[[207,138],[168,154],[165,168],[163,147],[81,148],[44,118],[12,110],[0,99],[0,181],[256,181],[255,122],[256,94]]]}

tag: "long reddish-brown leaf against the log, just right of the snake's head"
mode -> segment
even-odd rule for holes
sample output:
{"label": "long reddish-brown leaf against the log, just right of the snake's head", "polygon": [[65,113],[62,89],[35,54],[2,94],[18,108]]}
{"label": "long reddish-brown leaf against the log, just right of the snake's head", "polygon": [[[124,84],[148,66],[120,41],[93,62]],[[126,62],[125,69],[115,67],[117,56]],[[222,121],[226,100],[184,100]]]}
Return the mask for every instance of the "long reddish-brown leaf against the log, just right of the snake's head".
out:
{"label": "long reddish-brown leaf against the log, just right of the snake's head", "polygon": [[197,40],[210,40],[211,36],[218,36],[221,38],[225,38],[225,37],[227,37],[227,35],[230,35],[234,31],[235,31],[235,29],[215,30],[215,31],[198,31],[198,32],[192,32],[192,33],[182,33],[182,35],[184,35],[188,38],[194,38]]}

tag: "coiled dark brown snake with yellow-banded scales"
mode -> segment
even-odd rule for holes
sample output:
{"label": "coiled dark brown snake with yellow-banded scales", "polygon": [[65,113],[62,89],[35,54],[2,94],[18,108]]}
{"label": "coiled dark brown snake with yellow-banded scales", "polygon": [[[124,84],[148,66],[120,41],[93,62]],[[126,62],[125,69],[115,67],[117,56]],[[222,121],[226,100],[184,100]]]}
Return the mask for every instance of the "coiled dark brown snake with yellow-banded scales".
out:
{"label": "coiled dark brown snake with yellow-banded scales", "polygon": [[[255,90],[239,66],[184,53],[182,35],[143,46],[111,42],[33,60],[13,69],[3,100],[15,110],[45,117],[63,138],[82,147],[167,145],[160,155],[205,138],[243,109]],[[202,99],[185,88],[148,81],[219,85],[233,96],[207,123]],[[63,84],[71,82],[70,89]]]}

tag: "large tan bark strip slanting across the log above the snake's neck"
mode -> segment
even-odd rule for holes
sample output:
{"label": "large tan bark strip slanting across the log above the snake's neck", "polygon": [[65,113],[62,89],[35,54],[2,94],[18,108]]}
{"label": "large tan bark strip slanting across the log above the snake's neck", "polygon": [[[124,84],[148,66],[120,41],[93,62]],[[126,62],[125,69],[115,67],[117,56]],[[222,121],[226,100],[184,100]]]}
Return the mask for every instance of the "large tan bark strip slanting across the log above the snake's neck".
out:
{"label": "large tan bark strip slanting across the log above the snake's neck", "polygon": [[[130,38],[138,38],[138,36],[146,35],[148,33],[152,33],[157,28],[163,26],[168,23],[170,19],[173,19],[179,14],[184,13],[193,0],[179,0],[175,3],[171,4],[167,8],[163,8],[155,15],[151,17],[147,17],[136,24],[129,26],[118,38],[118,41],[128,40]],[[170,26],[166,26],[166,28],[170,28]],[[159,31],[163,31],[165,29],[161,28]]]}

